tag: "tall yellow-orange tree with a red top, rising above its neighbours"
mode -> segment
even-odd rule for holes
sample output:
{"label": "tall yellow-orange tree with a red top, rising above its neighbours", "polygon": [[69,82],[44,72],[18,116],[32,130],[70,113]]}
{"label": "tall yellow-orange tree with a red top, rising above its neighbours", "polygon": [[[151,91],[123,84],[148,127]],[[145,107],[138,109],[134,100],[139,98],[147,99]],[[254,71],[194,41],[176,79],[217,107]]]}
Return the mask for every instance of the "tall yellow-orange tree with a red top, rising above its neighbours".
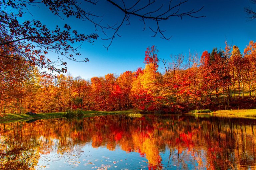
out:
{"label": "tall yellow-orange tree with a red top, rising above its neighbours", "polygon": [[[161,97],[160,95],[160,82],[162,75],[157,72],[158,69],[158,50],[153,45],[145,51],[145,68],[138,70],[134,73],[135,79],[132,86],[132,97],[134,105],[140,109],[157,109],[160,108]],[[157,105],[156,105],[157,104]]]}

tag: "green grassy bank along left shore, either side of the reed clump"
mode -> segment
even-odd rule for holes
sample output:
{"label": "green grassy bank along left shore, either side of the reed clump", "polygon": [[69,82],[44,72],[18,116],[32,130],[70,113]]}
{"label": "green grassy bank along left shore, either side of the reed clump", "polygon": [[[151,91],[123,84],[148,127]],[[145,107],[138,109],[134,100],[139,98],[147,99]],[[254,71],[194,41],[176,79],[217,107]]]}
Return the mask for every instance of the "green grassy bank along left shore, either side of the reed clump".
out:
{"label": "green grassy bank along left shore, either side of the reed clump", "polygon": [[[116,115],[116,114],[131,114],[133,110],[126,111],[114,111],[114,112],[103,112],[103,111],[82,111],[84,117],[89,116],[103,116],[103,115]],[[0,123],[10,123],[26,121],[28,119],[43,119],[43,118],[62,118],[65,117],[66,112],[56,113],[38,113],[36,115],[26,114],[0,114]]]}

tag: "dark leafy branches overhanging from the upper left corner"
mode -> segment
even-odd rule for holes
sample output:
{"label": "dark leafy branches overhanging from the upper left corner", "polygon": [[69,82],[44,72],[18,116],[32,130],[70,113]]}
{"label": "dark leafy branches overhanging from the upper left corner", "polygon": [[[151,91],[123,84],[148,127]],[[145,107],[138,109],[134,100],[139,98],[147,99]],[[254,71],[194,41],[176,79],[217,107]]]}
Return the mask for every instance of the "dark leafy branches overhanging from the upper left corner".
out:
{"label": "dark leafy branches overhanging from the upper left corner", "polygon": [[[64,29],[56,26],[50,30],[40,21],[28,20],[19,22],[28,4],[26,1],[0,1],[0,57],[13,60],[23,60],[36,68],[46,68],[52,72],[66,72],[66,62],[60,57],[64,55],[70,60],[77,61],[74,55],[80,55],[75,42],[93,42],[97,34],[78,34],[67,24]],[[68,16],[68,15],[67,15]],[[56,60],[46,57],[49,51],[56,52]],[[87,58],[78,61],[88,61]],[[62,68],[56,68],[61,65]],[[64,66],[64,67],[63,67]]]}

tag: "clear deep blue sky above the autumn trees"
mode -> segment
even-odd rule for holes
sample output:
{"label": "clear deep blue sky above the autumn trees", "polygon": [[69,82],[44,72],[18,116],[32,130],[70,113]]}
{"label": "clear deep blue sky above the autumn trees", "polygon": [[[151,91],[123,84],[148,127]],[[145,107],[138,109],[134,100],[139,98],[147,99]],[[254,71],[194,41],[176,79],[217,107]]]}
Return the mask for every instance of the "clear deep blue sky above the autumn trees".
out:
{"label": "clear deep blue sky above the autumn trees", "polygon": [[[119,1],[120,2],[120,1]],[[177,2],[177,1],[176,1]],[[113,5],[105,1],[99,1],[95,7],[86,7],[95,14],[103,15],[105,23],[120,22],[123,13]],[[243,52],[249,41],[256,41],[256,20],[250,20],[244,12],[244,7],[252,7],[256,10],[256,4],[250,1],[189,1],[182,10],[204,8],[197,14],[205,18],[173,17],[167,22],[162,22],[162,28],[166,35],[173,36],[169,41],[157,37],[151,37],[153,33],[146,28],[143,30],[143,23],[138,18],[130,18],[130,25],[124,24],[119,34],[109,47],[108,51],[103,45],[108,41],[101,32],[96,32],[93,25],[86,21],[75,18],[61,20],[45,7],[29,7],[31,14],[27,13],[24,19],[40,20],[43,24],[55,27],[71,25],[72,29],[80,33],[98,33],[99,39],[94,45],[84,42],[79,51],[82,58],[89,58],[90,62],[68,62],[68,72],[74,77],[81,76],[90,79],[94,76],[104,76],[108,73],[119,75],[127,70],[135,71],[138,67],[144,68],[145,50],[148,46],[155,45],[159,50],[158,57],[170,59],[170,55],[179,53],[188,56],[189,50],[201,53],[205,50],[211,52],[214,47],[224,48],[225,41],[230,45],[237,45]],[[110,35],[110,33],[109,33]],[[49,54],[54,57],[55,54]],[[159,71],[162,72],[162,65],[159,64]]]}

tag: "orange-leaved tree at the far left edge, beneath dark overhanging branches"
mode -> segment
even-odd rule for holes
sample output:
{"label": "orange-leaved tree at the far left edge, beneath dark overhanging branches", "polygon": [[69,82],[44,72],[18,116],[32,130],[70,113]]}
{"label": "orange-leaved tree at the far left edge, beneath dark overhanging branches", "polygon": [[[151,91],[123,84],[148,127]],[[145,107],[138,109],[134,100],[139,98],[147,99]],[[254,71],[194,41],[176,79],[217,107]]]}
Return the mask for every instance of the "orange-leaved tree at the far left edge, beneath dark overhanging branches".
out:
{"label": "orange-leaved tree at the far left edge, beneath dark overhanging branches", "polygon": [[[8,55],[10,58],[3,57]],[[27,99],[34,99],[38,72],[19,55],[0,48],[0,107],[2,113],[23,113]]]}

